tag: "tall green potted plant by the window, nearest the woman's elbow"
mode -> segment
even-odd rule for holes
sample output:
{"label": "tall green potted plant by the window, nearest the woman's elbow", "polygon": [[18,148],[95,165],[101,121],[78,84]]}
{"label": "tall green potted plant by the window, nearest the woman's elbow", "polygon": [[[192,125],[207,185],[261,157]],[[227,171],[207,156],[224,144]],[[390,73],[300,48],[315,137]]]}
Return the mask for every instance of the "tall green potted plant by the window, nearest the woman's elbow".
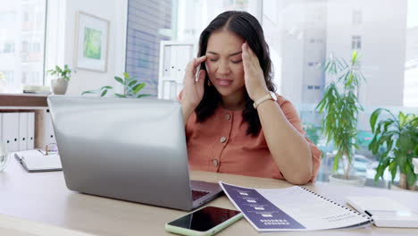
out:
{"label": "tall green potted plant by the window, nearest the woman's elbow", "polygon": [[[322,117],[322,134],[327,138],[327,143],[332,141],[336,150],[333,164],[333,174],[330,174],[330,182],[349,185],[364,185],[365,178],[350,175],[357,135],[357,114],[363,111],[357,99],[357,90],[364,76],[360,71],[360,60],[356,51],[351,60],[339,60],[330,56],[324,63],[324,72],[329,75],[330,84],[326,87],[316,110]],[[339,162],[342,161],[344,174],[338,174]]]}

